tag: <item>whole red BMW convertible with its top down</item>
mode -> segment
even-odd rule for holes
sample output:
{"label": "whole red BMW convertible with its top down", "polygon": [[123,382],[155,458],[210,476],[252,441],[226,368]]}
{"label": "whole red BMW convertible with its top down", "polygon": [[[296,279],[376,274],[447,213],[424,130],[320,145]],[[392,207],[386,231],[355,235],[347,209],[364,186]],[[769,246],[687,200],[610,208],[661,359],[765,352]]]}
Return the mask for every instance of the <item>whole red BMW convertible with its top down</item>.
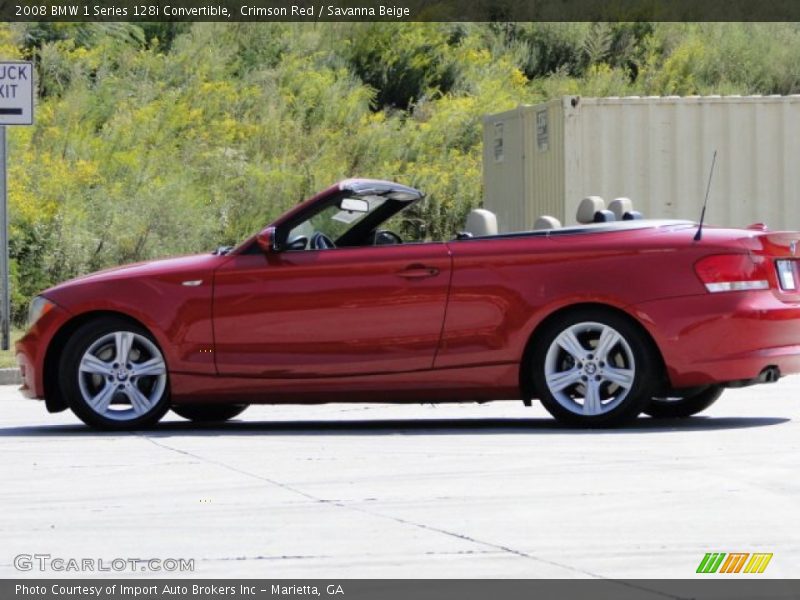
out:
{"label": "whole red BMW convertible with its top down", "polygon": [[389,227],[421,198],[347,180],[231,250],[51,288],[17,343],[23,391],[104,429],[170,408],[501,399],[599,427],[800,372],[796,232],[598,211],[497,234],[479,210],[455,239],[404,243]]}

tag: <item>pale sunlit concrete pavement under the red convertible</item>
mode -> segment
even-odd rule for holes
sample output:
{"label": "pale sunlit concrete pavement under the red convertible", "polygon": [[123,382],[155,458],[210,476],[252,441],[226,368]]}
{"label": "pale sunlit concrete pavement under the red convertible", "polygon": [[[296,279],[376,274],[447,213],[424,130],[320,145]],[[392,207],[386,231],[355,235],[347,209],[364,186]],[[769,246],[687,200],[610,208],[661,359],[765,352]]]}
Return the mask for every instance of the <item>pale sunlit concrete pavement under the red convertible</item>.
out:
{"label": "pale sunlit concrete pavement under the red convertible", "polygon": [[683,578],[738,551],[798,577],[799,440],[800,377],[615,431],[506,402],[255,406],[108,434],[5,386],[0,576],[92,575],[14,568],[47,553],[190,558],[202,578]]}

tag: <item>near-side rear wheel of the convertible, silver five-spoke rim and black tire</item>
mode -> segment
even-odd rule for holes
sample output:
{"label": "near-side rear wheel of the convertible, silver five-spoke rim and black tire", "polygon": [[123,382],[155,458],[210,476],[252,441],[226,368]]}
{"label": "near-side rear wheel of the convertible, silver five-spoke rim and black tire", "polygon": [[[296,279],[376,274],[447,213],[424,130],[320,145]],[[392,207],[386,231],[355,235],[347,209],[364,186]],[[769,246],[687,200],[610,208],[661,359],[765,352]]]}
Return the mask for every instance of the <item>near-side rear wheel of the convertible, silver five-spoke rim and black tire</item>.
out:
{"label": "near-side rear wheel of the convertible, silver five-spoke rim and black tire", "polygon": [[[526,365],[534,393],[548,412],[566,425],[617,427],[629,423],[642,412],[661,381],[661,360],[652,341],[620,313],[576,309],[557,316],[535,336]],[[599,347],[601,338],[603,348]],[[580,356],[576,359],[562,344]],[[612,377],[620,381],[624,377],[624,383],[612,382]],[[561,387],[568,381],[573,382]],[[591,406],[587,406],[588,386],[594,390],[589,394]]]}

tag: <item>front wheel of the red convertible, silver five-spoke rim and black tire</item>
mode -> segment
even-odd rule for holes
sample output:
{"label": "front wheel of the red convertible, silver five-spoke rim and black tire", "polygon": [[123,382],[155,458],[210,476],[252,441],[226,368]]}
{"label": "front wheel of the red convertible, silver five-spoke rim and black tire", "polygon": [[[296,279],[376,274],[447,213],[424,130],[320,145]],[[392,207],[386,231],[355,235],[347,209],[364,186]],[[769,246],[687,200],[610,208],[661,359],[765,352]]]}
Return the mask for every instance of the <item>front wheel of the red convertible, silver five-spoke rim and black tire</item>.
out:
{"label": "front wheel of the red convertible, silver five-spoke rim and black tire", "polygon": [[167,365],[144,328],[105,317],[80,327],[61,355],[59,384],[87,425],[123,430],[156,423],[169,408]]}

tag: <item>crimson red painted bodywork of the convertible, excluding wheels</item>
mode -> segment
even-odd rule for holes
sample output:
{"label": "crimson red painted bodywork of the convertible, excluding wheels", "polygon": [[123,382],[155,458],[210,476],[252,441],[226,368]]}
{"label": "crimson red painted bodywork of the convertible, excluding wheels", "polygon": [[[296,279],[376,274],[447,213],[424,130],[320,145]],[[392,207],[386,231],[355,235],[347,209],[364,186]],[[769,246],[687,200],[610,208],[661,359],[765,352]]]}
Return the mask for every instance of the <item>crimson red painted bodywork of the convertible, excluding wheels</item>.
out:
{"label": "crimson red painted bodywork of the convertible, excluding wheels", "polygon": [[[800,372],[800,293],[774,267],[800,234],[707,227],[695,242],[695,230],[638,221],[266,254],[250,238],[226,255],[111,269],[43,292],[56,308],[17,343],[23,391],[62,408],[46,376],[65,332],[99,313],[152,333],[175,403],[521,398],[537,328],[578,305],[644,329],[673,388]],[[756,275],[769,287],[705,286]]]}

